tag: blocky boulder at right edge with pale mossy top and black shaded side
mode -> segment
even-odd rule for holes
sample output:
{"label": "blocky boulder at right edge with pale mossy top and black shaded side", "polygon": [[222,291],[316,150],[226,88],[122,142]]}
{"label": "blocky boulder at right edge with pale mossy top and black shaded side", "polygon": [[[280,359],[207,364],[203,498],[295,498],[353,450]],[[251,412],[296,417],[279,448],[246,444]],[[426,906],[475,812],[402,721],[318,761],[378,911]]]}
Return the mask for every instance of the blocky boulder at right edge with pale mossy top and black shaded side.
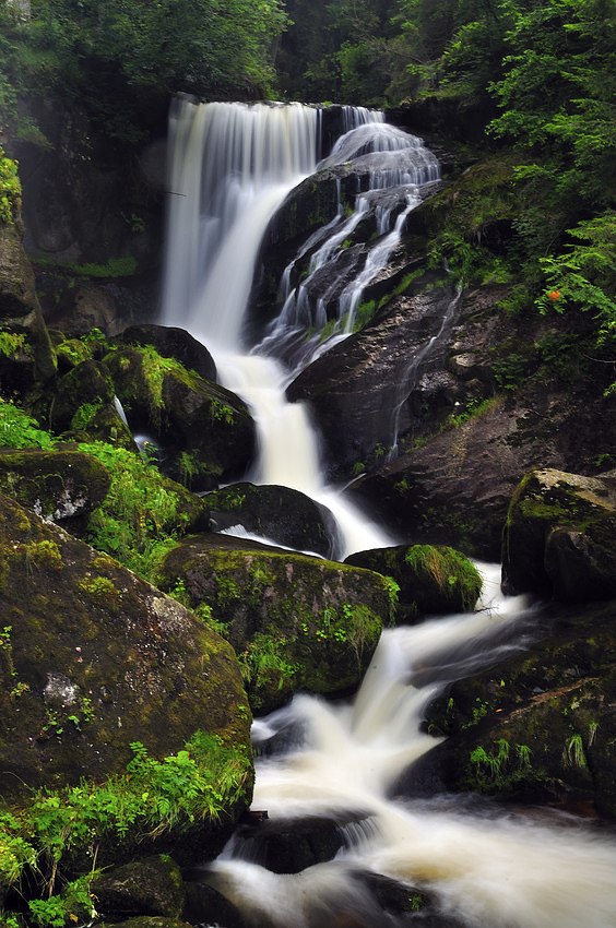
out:
{"label": "blocky boulder at right edge with pale mossy top and black shaded side", "polygon": [[616,596],[616,508],[597,478],[529,472],[502,536],[506,587],[564,602]]}

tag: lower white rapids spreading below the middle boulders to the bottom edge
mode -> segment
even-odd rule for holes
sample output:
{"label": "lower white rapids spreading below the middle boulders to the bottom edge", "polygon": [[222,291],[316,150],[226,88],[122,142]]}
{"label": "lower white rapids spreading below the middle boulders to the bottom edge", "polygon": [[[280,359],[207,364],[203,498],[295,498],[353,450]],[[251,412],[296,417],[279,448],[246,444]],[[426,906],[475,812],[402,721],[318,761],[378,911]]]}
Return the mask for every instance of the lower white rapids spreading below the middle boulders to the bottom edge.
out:
{"label": "lower white rapids spreading below the middle boulders to the bottom edge", "polygon": [[[237,844],[222,855],[209,881],[247,916],[261,913],[281,928],[328,926],[341,912],[353,914],[353,925],[407,925],[382,920],[358,881],[369,871],[429,890],[438,911],[472,928],[614,928],[609,836],[545,810],[533,819],[489,804],[471,811],[454,797],[390,798],[406,768],[437,743],[420,730],[429,700],[448,680],[518,647],[528,606],[499,595],[496,566],[482,568],[491,608],[384,632],[353,705],[296,697],[254,723],[258,742],[289,726],[304,731],[299,747],[258,762],[254,808],[285,821],[364,818],[345,829],[334,860],[298,875],[237,859]],[[426,668],[440,679],[422,686]]]}

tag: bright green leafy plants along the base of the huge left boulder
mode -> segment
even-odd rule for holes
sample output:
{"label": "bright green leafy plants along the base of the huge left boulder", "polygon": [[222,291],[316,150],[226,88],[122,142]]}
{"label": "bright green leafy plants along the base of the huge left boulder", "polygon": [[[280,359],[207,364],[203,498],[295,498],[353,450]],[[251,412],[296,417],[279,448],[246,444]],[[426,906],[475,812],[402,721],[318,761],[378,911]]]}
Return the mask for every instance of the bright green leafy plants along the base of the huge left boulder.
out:
{"label": "bright green leafy plants along the base of the huge left boulder", "polygon": [[29,867],[49,883],[50,899],[29,904],[38,924],[60,928],[95,917],[92,873],[51,895],[68,852],[85,854],[93,842],[128,835],[138,842],[144,833],[156,836],[216,821],[242,795],[250,770],[241,750],[204,731],[162,761],[150,758],[140,742],[131,748],[134,758],[125,775],[40,790],[20,812],[0,812],[0,877],[15,883]]}

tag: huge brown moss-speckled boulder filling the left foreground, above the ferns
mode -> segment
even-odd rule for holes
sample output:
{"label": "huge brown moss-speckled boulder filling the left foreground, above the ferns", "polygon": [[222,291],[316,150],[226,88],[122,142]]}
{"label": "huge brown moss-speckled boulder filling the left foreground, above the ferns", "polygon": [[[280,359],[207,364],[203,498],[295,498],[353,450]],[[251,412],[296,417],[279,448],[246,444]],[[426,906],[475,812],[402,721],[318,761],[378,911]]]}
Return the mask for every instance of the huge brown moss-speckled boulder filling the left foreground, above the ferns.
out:
{"label": "huge brown moss-speckled boulder filling the left foreground, above the ferns", "polygon": [[163,759],[201,729],[245,758],[235,797],[242,808],[250,712],[229,644],[117,561],[5,497],[0,546],[2,795],[31,797],[82,777],[100,783],[126,772],[131,745]]}

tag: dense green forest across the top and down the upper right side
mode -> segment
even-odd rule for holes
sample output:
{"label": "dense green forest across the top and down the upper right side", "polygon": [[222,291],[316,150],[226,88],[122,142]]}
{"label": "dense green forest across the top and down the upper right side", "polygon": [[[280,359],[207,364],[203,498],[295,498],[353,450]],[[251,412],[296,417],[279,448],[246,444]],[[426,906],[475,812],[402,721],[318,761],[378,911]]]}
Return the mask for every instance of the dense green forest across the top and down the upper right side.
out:
{"label": "dense green forest across the top and down the upper right side", "polygon": [[434,262],[467,281],[516,281],[512,309],[583,308],[605,359],[616,319],[613,0],[3,0],[0,17],[0,120],[43,147],[35,120],[19,117],[20,94],[79,100],[127,148],[164,131],[177,91],[429,102],[446,136],[454,112],[473,114],[494,182],[458,204]]}

